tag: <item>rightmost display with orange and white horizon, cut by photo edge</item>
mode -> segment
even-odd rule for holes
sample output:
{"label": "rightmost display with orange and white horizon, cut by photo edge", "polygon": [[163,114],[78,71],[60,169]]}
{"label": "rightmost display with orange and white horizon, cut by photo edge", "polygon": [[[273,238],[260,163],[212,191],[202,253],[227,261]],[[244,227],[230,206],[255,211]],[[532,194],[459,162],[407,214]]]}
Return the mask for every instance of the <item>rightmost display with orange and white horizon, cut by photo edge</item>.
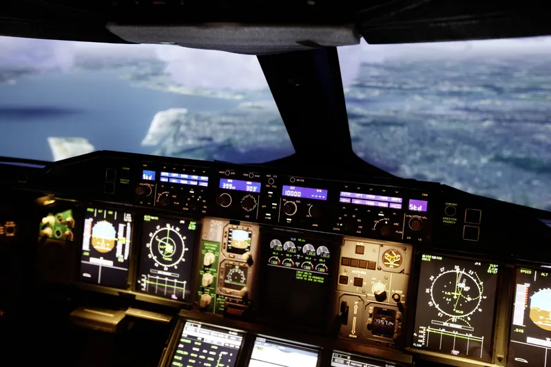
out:
{"label": "rightmost display with orange and white horizon, cut by photo edge", "polygon": [[517,269],[507,366],[551,366],[551,276]]}

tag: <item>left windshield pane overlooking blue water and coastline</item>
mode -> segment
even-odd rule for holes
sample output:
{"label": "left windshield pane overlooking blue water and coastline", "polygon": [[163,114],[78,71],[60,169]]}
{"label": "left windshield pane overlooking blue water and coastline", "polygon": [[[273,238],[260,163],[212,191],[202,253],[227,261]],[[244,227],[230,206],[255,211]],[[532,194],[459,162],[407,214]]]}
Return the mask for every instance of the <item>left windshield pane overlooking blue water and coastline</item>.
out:
{"label": "left windshield pane overlooking blue water and coastline", "polygon": [[256,56],[0,37],[0,156],[116,150],[266,162],[294,153]]}

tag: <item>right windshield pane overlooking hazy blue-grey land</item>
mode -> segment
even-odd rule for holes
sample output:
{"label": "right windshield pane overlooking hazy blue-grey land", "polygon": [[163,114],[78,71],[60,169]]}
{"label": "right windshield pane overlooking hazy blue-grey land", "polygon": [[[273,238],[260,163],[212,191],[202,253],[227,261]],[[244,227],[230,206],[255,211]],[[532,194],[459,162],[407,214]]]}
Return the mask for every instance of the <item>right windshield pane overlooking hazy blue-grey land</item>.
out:
{"label": "right windshield pane overlooking hazy blue-grey land", "polygon": [[551,37],[340,48],[355,153],[551,210]]}

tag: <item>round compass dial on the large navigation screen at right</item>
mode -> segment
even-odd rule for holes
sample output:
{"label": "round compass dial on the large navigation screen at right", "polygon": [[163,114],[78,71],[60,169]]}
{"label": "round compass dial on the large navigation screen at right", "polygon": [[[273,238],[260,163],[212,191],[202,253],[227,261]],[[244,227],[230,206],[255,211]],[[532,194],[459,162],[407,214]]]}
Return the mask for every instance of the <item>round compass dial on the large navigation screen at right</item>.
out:
{"label": "round compass dial on the large navigation screen at right", "polygon": [[430,277],[430,306],[450,317],[466,317],[479,310],[481,300],[485,297],[484,284],[476,271],[455,269],[441,271]]}

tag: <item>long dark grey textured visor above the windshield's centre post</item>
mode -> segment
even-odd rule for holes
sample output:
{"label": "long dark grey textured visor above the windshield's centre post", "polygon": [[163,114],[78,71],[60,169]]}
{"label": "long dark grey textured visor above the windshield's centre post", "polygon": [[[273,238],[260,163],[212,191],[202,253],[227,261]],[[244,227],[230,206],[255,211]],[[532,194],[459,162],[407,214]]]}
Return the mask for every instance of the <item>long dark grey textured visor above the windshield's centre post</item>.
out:
{"label": "long dark grey textured visor above the windshield's centre post", "polygon": [[120,25],[107,29],[132,43],[163,43],[237,54],[271,54],[312,48],[357,45],[360,34],[346,25]]}

